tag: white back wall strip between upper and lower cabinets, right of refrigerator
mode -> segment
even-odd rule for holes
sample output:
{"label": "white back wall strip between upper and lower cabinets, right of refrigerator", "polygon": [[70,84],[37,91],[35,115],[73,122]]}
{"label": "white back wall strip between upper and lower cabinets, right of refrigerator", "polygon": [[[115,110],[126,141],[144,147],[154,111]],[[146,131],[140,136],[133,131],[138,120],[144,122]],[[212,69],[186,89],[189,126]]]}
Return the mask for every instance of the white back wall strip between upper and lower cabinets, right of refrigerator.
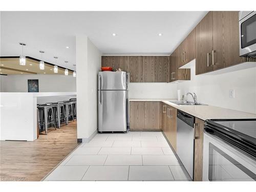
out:
{"label": "white back wall strip between upper and lower cabinets, right of refrigerator", "polygon": [[129,98],[177,98],[177,83],[132,82],[129,83]]}

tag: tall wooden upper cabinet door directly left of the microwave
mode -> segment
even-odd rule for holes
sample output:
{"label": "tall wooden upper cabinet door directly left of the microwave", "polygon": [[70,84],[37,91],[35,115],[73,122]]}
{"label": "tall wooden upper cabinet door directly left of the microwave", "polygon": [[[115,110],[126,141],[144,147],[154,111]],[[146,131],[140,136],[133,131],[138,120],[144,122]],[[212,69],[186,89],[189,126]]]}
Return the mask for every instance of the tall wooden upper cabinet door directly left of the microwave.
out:
{"label": "tall wooden upper cabinet door directly left of the microwave", "polygon": [[245,62],[239,57],[238,11],[214,11],[213,14],[213,69],[221,69]]}

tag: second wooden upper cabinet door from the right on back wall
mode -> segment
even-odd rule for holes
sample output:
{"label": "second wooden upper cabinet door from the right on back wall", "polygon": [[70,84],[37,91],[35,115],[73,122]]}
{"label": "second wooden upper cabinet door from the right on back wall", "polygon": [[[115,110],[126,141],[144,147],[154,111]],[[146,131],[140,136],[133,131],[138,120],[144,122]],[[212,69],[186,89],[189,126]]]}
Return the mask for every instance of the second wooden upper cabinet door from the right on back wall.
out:
{"label": "second wooden upper cabinet door from the right on back wall", "polygon": [[155,82],[155,56],[142,57],[142,82]]}

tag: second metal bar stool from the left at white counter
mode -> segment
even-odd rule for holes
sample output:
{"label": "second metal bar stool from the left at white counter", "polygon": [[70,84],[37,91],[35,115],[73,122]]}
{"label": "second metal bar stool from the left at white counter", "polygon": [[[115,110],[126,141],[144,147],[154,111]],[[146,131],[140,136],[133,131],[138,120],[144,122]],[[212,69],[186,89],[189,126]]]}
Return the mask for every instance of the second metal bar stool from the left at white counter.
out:
{"label": "second metal bar stool from the left at white counter", "polygon": [[62,123],[66,123],[66,125],[68,125],[67,122],[67,115],[66,115],[66,110],[65,110],[65,106],[64,104],[58,103],[58,102],[49,102],[46,103],[47,105],[52,105],[53,106],[53,113],[55,116],[55,122],[57,122],[58,124],[58,129],[60,129],[60,124]]}

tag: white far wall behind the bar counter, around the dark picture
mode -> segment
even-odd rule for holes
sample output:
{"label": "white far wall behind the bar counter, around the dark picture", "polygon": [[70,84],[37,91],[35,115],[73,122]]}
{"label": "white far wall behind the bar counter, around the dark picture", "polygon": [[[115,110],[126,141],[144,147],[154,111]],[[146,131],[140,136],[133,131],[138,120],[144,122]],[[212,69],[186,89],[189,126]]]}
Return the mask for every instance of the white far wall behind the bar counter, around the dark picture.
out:
{"label": "white far wall behind the bar counter, around the dark picture", "polygon": [[69,75],[0,75],[1,92],[28,92],[28,79],[38,79],[39,92],[75,92],[76,78]]}

